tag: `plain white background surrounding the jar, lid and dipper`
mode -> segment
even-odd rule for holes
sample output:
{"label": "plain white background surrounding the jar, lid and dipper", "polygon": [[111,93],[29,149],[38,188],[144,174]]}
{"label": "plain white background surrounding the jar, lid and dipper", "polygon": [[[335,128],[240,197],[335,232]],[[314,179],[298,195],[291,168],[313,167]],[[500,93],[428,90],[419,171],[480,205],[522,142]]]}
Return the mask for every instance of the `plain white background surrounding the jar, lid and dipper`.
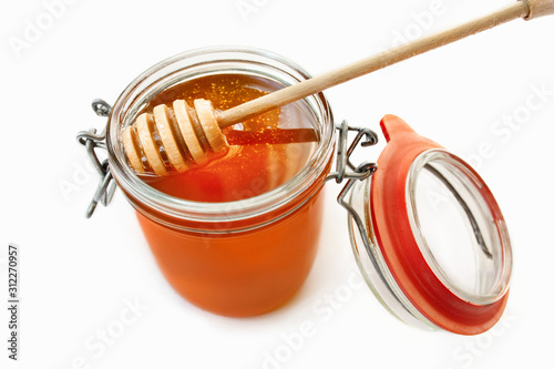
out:
{"label": "plain white background surrounding the jar, lid and dipper", "polygon": [[[2,368],[552,362],[554,18],[516,20],[328,91],[338,120],[378,130],[382,115],[397,114],[468,157],[495,194],[513,239],[510,303],[492,331],[459,337],[401,324],[360,287],[335,184],[327,185],[316,263],[290,304],[250,319],[195,308],[164,280],[120,192],[84,218],[98,178],[74,136],[104,125],[90,107],[94,98],[113,103],[143,70],[186,50],[254,45],[318,74],[511,0],[66,0],[55,11],[52,2],[2,0],[0,8],[0,297],[7,301],[11,242],[21,249],[22,301],[18,362],[7,359],[0,304]],[[32,27],[42,31],[25,31]],[[377,160],[381,147],[365,160]],[[141,309],[133,314],[129,304]],[[302,322],[312,328],[300,340]],[[106,329],[116,336],[110,345],[100,344]]]}

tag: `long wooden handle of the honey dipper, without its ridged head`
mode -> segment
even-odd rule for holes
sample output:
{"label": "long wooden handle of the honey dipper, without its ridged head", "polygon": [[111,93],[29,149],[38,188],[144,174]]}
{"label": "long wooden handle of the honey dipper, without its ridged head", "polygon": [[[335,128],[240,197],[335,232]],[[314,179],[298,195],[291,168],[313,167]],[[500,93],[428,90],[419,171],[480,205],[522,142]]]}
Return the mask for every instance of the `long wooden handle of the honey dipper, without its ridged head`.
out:
{"label": "long wooden handle of the honey dipper, without its ridged head", "polygon": [[513,19],[525,20],[554,14],[554,0],[521,0],[491,14],[478,18],[449,30],[383,51],[312,79],[293,84],[270,94],[252,100],[217,114],[217,123],[224,129],[275,107],[304,99],[311,94],[371,73],[388,65],[443,47],[471,34],[482,32]]}

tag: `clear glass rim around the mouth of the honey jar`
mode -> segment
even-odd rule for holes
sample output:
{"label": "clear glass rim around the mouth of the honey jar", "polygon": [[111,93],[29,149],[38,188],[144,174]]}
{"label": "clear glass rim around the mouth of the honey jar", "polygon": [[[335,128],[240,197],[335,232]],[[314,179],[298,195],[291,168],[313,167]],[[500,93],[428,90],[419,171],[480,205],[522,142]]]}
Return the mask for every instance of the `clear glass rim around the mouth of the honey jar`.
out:
{"label": "clear glass rim around the mouth of the honey jar", "polygon": [[[269,192],[234,202],[194,202],[160,192],[142,181],[132,171],[126,163],[124,151],[120,144],[121,134],[123,129],[132,121],[131,116],[136,114],[137,105],[152,98],[152,92],[146,95],[144,95],[144,92],[153,89],[153,85],[160,83],[164,78],[167,81],[175,82],[186,70],[198,65],[205,66],[207,63],[223,62],[243,63],[245,65],[253,63],[258,68],[266,65],[269,69],[268,72],[284,73],[287,78],[295,80],[295,83],[311,78],[301,66],[274,52],[258,48],[230,45],[186,51],[167,58],[140,74],[119,96],[112,107],[106,129],[106,146],[112,175],[127,197],[131,197],[131,204],[136,209],[141,211],[142,206],[140,205],[144,205],[146,208],[155,209],[157,213],[174,219],[209,224],[244,221],[281,208],[306,189],[312,187],[314,183],[321,177],[332,155],[335,143],[332,112],[322,92],[304,99],[311,112],[317,113],[318,121],[321,120],[318,127],[320,141],[315,153],[293,178]],[[160,221],[160,218],[157,219]]]}

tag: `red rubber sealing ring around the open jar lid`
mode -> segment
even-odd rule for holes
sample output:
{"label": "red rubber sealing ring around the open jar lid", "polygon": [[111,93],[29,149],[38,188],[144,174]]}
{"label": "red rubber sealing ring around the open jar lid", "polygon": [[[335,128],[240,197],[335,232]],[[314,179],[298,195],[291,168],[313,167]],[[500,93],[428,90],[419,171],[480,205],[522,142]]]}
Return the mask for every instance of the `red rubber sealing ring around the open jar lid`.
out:
{"label": "red rubber sealing ring around the open jar lid", "polygon": [[[386,115],[381,129],[388,144],[372,177],[371,216],[376,239],[393,278],[412,305],[434,325],[461,335],[490,329],[504,311],[507,291],[489,305],[461,299],[434,275],[411,230],[406,194],[410,165],[422,152],[443,147],[420,136],[394,115]],[[494,213],[501,216],[500,209]]]}

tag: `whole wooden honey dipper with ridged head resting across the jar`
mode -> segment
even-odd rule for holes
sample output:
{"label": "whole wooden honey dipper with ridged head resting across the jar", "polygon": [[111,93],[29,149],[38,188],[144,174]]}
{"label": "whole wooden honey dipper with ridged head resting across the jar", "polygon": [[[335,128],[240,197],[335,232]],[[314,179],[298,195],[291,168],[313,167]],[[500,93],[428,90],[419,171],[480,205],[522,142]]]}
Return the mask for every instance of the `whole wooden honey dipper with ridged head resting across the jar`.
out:
{"label": "whole wooden honey dipper with ridged head resting across the jar", "polygon": [[[491,14],[383,51],[223,112],[215,112],[212,102],[203,99],[194,101],[194,110],[184,100],[174,101],[172,107],[157,105],[152,114],[141,114],[134,124],[123,131],[123,146],[131,166],[137,173],[144,173],[145,167],[150,166],[156,175],[166,175],[167,165],[177,172],[184,172],[194,163],[206,163],[212,152],[219,153],[227,148],[228,143],[222,129],[513,19],[530,20],[548,14],[554,14],[554,0],[519,0]],[[157,145],[153,137],[154,124],[162,145]],[[163,160],[161,151],[165,151],[167,161]]]}

